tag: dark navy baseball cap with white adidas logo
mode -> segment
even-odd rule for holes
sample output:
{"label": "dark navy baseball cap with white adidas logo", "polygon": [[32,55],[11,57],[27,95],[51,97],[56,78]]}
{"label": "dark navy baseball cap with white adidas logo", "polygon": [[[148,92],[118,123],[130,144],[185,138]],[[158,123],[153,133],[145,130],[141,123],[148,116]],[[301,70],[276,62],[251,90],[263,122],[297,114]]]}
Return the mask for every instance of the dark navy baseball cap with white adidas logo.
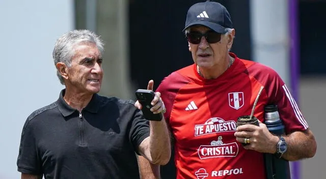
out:
{"label": "dark navy baseball cap with white adidas logo", "polygon": [[185,27],[204,25],[213,31],[224,34],[226,28],[232,28],[232,21],[228,10],[218,2],[206,1],[194,4],[187,12]]}

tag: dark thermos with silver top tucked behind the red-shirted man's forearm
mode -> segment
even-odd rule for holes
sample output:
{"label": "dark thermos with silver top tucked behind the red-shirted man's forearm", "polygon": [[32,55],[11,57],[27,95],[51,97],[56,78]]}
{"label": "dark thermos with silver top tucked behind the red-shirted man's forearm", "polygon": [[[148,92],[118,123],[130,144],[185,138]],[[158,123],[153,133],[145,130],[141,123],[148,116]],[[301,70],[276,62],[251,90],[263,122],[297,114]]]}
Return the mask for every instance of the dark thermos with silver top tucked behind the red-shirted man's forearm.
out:
{"label": "dark thermos with silver top tucked behind the red-shirted man's forearm", "polygon": [[[285,127],[280,119],[277,105],[265,106],[265,122],[270,133],[277,136],[285,134]],[[276,147],[276,146],[275,146]],[[290,179],[289,161],[274,154],[264,154],[267,179]]]}

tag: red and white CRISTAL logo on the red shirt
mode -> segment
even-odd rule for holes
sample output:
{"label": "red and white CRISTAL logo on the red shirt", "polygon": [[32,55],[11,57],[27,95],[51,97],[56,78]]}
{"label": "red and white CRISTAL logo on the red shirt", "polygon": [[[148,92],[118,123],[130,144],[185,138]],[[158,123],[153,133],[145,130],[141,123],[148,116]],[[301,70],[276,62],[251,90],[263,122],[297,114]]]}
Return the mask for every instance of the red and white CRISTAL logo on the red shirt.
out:
{"label": "red and white CRISTAL logo on the red shirt", "polygon": [[210,145],[200,145],[197,151],[200,159],[236,157],[239,147],[236,142],[223,143],[222,136],[219,136],[218,140],[211,141]]}

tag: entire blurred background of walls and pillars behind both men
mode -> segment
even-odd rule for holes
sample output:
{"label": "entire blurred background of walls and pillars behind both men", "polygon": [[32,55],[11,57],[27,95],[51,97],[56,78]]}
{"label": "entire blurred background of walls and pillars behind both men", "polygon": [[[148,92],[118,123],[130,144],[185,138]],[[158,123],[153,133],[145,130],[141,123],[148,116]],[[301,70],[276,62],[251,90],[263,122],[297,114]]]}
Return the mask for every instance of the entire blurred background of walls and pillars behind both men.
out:
{"label": "entire blurred background of walls and pillars behind both men", "polygon": [[[26,118],[63,88],[53,64],[57,38],[87,28],[106,42],[101,94],[135,99],[171,72],[193,63],[181,32],[187,9],[203,1],[0,1],[0,178],[19,178],[16,160]],[[275,69],[315,134],[317,153],[291,163],[292,178],[324,178],[326,140],[326,1],[224,0],[236,30],[232,52]],[[162,173],[168,176],[169,171]]]}

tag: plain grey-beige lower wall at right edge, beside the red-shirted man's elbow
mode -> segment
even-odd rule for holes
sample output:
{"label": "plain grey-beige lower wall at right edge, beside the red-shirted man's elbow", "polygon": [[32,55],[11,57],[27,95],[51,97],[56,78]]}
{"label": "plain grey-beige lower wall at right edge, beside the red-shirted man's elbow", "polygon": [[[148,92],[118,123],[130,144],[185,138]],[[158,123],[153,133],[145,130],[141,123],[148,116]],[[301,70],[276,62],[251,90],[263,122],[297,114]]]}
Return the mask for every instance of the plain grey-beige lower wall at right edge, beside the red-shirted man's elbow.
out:
{"label": "plain grey-beige lower wall at right edge, beside the red-shirted man's elbow", "polygon": [[302,77],[300,79],[300,106],[302,113],[314,133],[317,141],[316,155],[311,159],[302,161],[302,179],[325,178],[326,169],[326,76]]}

